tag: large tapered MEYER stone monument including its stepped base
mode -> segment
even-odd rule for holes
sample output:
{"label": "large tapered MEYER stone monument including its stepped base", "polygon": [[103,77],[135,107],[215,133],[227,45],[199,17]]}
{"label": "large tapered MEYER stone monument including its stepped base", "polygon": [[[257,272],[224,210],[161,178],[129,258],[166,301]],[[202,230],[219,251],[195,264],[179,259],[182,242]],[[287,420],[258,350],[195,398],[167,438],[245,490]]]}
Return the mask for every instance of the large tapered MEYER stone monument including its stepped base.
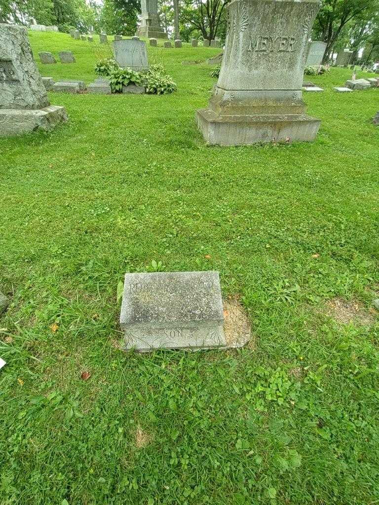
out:
{"label": "large tapered MEYER stone monument including its stepped base", "polygon": [[307,41],[319,0],[232,0],[220,75],[196,120],[209,144],[314,140],[302,99]]}

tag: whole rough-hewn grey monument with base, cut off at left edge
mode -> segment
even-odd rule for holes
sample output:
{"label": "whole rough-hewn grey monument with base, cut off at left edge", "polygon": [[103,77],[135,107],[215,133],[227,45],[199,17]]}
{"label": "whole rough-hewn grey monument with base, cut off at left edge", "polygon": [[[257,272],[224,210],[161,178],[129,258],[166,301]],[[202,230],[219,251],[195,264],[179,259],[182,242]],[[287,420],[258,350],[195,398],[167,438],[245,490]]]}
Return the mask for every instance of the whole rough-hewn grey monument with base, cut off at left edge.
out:
{"label": "whole rough-hewn grey monument with base, cut off at left edge", "polygon": [[0,136],[50,131],[67,119],[50,105],[26,31],[0,24]]}

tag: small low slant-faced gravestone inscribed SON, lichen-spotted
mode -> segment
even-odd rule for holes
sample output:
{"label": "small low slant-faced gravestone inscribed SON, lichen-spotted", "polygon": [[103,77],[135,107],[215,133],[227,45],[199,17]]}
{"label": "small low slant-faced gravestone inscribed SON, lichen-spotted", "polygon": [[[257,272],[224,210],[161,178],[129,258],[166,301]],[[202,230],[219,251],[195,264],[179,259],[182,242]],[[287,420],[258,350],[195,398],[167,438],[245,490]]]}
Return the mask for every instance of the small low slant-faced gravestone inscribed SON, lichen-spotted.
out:
{"label": "small low slant-faced gravestone inscribed SON, lichen-spotted", "polygon": [[218,272],[126,274],[120,326],[126,349],[225,347]]}

